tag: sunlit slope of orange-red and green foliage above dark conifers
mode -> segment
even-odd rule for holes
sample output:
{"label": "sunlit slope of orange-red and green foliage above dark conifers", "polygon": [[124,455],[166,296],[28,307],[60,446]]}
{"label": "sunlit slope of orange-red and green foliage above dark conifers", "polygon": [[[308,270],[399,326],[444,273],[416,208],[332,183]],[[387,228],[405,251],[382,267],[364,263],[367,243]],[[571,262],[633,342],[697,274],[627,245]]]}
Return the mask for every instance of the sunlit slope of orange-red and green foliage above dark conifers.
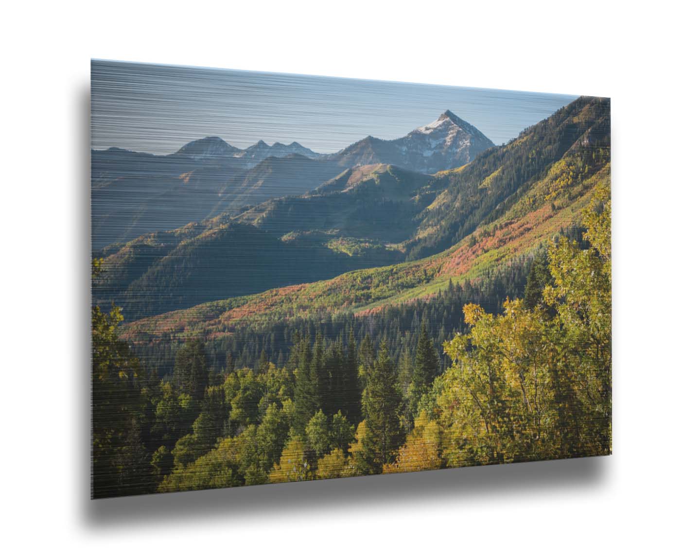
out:
{"label": "sunlit slope of orange-red and green foliage above dark conifers", "polygon": [[[547,197],[549,186],[559,179],[559,173],[547,176],[533,188],[531,198],[433,257],[144,318],[127,325],[124,336],[139,344],[194,334],[208,339],[233,338],[240,325],[269,325],[292,318],[327,321],[339,313],[375,314],[385,307],[433,297],[450,282],[482,279],[494,267],[510,266],[513,260],[532,255],[552,237],[575,228],[594,188],[609,184],[609,165]],[[527,211],[540,195],[541,206]]]}

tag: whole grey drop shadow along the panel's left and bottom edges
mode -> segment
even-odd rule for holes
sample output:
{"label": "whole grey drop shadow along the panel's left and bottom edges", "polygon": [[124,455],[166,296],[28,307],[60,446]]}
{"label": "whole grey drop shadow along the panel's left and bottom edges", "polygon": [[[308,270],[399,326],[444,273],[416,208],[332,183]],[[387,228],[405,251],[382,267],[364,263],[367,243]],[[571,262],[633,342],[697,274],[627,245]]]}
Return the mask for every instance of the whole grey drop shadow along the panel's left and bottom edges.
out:
{"label": "whole grey drop shadow along the panel's left and bottom edges", "polygon": [[[90,216],[90,90],[80,91],[76,125],[83,139],[79,150],[78,174],[83,178],[76,188],[76,205],[81,216]],[[78,445],[73,455],[79,458],[76,493],[80,521],[88,529],[115,526],[139,526],[211,519],[214,517],[254,517],[342,509],[364,510],[391,502],[417,508],[434,500],[444,502],[477,501],[504,494],[538,493],[538,496],[571,489],[593,488],[603,483],[609,459],[605,457],[542,461],[518,465],[493,465],[404,475],[384,475],[351,479],[320,480],[290,484],[268,484],[234,489],[207,490],[130,498],[90,500],[90,223],[75,225],[74,235],[80,246],[74,265],[85,281],[76,283],[76,301],[81,302],[80,316],[85,327],[76,337],[81,368],[76,375],[76,412]]]}

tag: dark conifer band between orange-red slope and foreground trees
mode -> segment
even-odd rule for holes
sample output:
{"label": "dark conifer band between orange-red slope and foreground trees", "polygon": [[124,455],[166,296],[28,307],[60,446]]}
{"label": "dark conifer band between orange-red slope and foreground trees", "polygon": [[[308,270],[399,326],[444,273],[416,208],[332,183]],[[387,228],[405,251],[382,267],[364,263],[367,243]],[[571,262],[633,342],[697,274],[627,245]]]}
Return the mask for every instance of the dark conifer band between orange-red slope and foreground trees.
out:
{"label": "dark conifer band between orange-red slope and foreground trees", "polygon": [[[570,231],[561,235],[571,237]],[[545,253],[545,248],[537,255]],[[214,370],[255,367],[260,354],[278,367],[283,367],[290,357],[297,333],[303,333],[311,341],[318,334],[335,339],[342,336],[347,340],[349,332],[356,341],[370,335],[375,350],[385,339],[393,360],[398,363],[402,353],[414,358],[421,325],[425,324],[428,334],[437,348],[451,339],[463,327],[462,307],[468,302],[479,302],[484,309],[497,313],[503,302],[510,297],[520,297],[524,293],[531,262],[536,255],[524,255],[490,269],[478,279],[447,281],[442,290],[427,299],[414,300],[397,306],[387,306],[366,316],[352,313],[329,315],[324,318],[293,318],[290,321],[264,322],[255,325],[237,325],[229,336],[204,341],[207,360]],[[181,343],[167,335],[149,344],[134,346],[134,352],[141,364],[148,370],[155,370],[159,377],[172,375],[175,356]],[[440,367],[449,366],[449,356],[440,353]]]}

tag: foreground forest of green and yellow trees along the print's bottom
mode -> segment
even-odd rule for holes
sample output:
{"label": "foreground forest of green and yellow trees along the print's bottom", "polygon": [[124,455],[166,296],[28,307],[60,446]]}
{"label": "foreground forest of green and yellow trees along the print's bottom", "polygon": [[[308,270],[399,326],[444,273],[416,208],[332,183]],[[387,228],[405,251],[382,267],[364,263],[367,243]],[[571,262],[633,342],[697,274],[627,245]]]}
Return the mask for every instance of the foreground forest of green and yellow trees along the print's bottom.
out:
{"label": "foreground forest of green and yellow trees along the print's bottom", "polygon": [[118,340],[118,309],[96,307],[94,496],[610,453],[608,183],[582,221],[582,244],[560,237],[530,267],[524,300],[464,305],[443,373],[423,323],[398,363],[388,337],[377,351],[370,332],[297,332],[283,363],[216,370],[190,338],[159,379]]}

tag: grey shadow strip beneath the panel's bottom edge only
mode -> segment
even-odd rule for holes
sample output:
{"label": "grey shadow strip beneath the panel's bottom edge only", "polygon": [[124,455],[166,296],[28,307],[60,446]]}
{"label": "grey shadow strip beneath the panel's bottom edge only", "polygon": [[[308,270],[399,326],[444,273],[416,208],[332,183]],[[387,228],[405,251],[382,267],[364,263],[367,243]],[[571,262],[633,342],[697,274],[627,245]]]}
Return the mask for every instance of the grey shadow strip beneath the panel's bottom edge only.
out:
{"label": "grey shadow strip beneath the panel's bottom edge only", "polygon": [[419,511],[435,500],[464,503],[517,493],[541,498],[601,484],[606,463],[604,457],[593,457],[93,500],[85,505],[83,521],[88,528],[222,517],[250,521],[336,510],[359,514],[385,503]]}

